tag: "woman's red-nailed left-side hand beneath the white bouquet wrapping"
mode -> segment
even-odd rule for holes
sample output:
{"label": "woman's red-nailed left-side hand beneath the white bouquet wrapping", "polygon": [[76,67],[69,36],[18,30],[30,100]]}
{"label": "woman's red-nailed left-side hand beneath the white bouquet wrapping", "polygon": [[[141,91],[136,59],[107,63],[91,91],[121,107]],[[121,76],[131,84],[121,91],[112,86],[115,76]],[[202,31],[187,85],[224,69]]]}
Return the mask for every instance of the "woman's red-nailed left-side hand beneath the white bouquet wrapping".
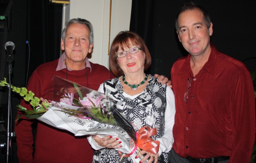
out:
{"label": "woman's red-nailed left-side hand beneath the white bouquet wrapping", "polygon": [[119,145],[122,141],[120,141],[119,138],[112,138],[111,135],[103,138],[98,137],[97,135],[93,135],[92,138],[98,145],[102,147],[114,148],[114,149],[122,147],[121,145]]}

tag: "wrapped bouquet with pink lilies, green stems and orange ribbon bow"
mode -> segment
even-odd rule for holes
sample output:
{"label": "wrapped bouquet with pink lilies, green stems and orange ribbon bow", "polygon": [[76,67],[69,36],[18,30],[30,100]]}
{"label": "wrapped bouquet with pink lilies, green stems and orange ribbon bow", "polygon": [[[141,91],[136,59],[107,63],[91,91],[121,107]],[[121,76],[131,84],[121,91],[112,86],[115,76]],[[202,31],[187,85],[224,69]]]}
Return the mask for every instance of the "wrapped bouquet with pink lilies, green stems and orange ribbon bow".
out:
{"label": "wrapped bouquet with pink lilies, green stems and orange ribbon bow", "polygon": [[[24,112],[18,119],[22,116],[38,119],[48,125],[72,132],[75,136],[112,135],[122,141],[122,147],[116,150],[124,154],[132,154],[137,147],[158,152],[159,142],[150,138],[152,134],[156,134],[156,129],[152,132],[152,129],[144,127],[136,133],[122,113],[118,112],[115,101],[108,95],[58,76],[54,76],[53,81],[53,101],[41,101],[26,88],[11,86],[12,91],[19,93],[33,107],[32,110],[27,110],[18,105],[19,110]],[[0,81],[0,86],[9,87],[5,78],[4,81]]]}

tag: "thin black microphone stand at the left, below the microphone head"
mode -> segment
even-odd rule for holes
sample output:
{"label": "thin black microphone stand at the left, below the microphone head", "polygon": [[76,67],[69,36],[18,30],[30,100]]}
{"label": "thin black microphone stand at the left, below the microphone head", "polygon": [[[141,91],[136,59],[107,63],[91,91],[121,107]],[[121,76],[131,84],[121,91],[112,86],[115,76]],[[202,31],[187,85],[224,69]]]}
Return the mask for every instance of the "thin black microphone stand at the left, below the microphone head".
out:
{"label": "thin black microphone stand at the left, below the microphone head", "polygon": [[9,93],[8,93],[8,114],[7,114],[7,141],[6,141],[6,163],[11,162],[12,155],[12,137],[15,137],[15,133],[12,132],[12,103],[11,103],[11,73],[12,73],[12,62],[13,54],[9,54],[7,57],[8,67],[9,67]]}

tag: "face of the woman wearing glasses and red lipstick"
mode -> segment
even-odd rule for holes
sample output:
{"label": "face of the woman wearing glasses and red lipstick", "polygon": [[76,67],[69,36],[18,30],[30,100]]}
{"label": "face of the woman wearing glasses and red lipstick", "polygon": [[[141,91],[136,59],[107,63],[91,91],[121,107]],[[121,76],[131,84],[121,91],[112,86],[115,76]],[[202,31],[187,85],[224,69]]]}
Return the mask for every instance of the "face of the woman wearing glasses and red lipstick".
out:
{"label": "face of the woman wearing glasses and red lipstick", "polygon": [[129,47],[119,47],[117,53],[127,51],[127,55],[122,58],[116,58],[119,67],[122,69],[125,75],[132,75],[138,73],[144,73],[145,54],[142,50],[137,53],[130,54],[128,50],[131,48],[140,47],[130,42]]}

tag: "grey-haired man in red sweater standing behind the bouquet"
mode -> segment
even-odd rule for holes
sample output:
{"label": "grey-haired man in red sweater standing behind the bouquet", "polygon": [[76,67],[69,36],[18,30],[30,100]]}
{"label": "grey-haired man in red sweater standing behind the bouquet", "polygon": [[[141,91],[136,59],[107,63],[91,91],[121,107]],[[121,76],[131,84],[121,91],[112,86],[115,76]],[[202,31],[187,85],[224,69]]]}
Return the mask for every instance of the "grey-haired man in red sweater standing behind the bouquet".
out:
{"label": "grey-haired man in red sweater standing behind the bouquet", "polygon": [[[87,20],[71,19],[66,23],[62,31],[61,48],[65,52],[59,59],[40,65],[29,79],[27,89],[34,92],[36,97],[52,98],[51,79],[54,75],[94,90],[97,90],[103,81],[115,77],[104,66],[91,63],[87,59],[87,54],[91,53],[93,48],[93,28]],[[21,105],[31,108],[24,100]],[[15,123],[20,163],[92,161],[94,151],[86,137],[74,137],[67,131],[41,122],[37,123],[34,151],[32,123],[34,120],[24,119]]]}

